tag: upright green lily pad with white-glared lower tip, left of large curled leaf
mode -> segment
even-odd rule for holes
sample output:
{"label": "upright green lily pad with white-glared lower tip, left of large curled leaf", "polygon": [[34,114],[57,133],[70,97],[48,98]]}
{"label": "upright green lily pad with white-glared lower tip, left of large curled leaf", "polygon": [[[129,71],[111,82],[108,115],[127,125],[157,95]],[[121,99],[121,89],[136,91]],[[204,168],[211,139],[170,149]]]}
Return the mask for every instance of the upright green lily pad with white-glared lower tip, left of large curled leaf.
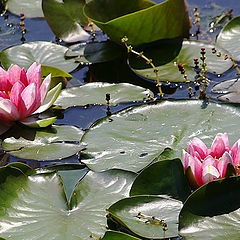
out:
{"label": "upright green lily pad with white-glared lower tip, left of large curled leaf", "polygon": [[65,42],[88,40],[90,35],[83,30],[88,20],[83,15],[85,0],[43,0],[44,17],[54,34]]}

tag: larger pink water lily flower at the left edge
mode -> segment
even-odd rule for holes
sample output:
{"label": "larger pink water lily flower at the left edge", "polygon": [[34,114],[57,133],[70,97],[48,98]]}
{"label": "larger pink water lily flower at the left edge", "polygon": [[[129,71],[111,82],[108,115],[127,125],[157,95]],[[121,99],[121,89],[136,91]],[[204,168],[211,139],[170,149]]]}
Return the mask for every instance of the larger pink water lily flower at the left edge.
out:
{"label": "larger pink water lily flower at the left edge", "polygon": [[14,121],[30,127],[39,125],[28,117],[47,110],[58,97],[61,83],[48,91],[50,83],[51,74],[41,81],[41,65],[37,63],[33,63],[27,72],[17,65],[8,71],[0,67],[0,134]]}

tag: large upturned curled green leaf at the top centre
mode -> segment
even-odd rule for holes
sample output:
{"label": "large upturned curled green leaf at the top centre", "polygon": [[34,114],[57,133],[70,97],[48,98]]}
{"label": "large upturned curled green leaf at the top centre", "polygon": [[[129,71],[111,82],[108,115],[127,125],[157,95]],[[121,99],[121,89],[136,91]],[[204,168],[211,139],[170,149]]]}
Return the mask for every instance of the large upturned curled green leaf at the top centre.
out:
{"label": "large upturned curled green leaf at the top centre", "polygon": [[186,37],[189,18],[184,0],[93,0],[84,8],[86,15],[112,40],[140,45],[159,39]]}

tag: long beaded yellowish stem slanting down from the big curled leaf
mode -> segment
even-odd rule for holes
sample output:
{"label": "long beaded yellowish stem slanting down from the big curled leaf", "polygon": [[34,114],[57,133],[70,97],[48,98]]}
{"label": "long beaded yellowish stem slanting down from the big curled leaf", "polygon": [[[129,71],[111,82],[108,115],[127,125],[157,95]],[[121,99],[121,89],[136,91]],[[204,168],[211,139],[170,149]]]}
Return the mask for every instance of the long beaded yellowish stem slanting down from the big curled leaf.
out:
{"label": "long beaded yellowish stem slanting down from the big curled leaf", "polygon": [[155,67],[155,65],[152,63],[152,59],[149,59],[145,55],[143,55],[143,52],[139,53],[139,52],[133,50],[133,47],[131,45],[127,45],[127,41],[128,41],[127,37],[122,38],[122,43],[124,43],[128,52],[131,52],[131,53],[136,54],[137,56],[141,57],[142,59],[144,59],[146,61],[147,64],[149,64],[153,68],[153,71],[156,74],[156,82],[157,82],[156,87],[158,88],[160,97],[163,97],[164,94],[163,94],[162,88],[161,88],[162,84],[160,83],[159,76],[158,76],[159,69],[157,67]]}

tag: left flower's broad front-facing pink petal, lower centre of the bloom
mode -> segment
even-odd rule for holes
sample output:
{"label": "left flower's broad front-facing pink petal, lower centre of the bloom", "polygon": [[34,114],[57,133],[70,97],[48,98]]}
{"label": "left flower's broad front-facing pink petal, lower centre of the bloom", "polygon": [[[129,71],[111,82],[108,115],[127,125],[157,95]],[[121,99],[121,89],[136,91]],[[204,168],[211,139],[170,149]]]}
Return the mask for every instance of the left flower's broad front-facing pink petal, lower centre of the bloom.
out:
{"label": "left flower's broad front-facing pink petal, lower centre of the bloom", "polygon": [[33,113],[32,109],[34,108],[35,102],[36,102],[36,85],[35,85],[35,83],[29,84],[22,91],[21,97],[24,102],[24,106],[26,108],[26,112],[21,117],[25,118],[25,117],[31,115],[31,113]]}

